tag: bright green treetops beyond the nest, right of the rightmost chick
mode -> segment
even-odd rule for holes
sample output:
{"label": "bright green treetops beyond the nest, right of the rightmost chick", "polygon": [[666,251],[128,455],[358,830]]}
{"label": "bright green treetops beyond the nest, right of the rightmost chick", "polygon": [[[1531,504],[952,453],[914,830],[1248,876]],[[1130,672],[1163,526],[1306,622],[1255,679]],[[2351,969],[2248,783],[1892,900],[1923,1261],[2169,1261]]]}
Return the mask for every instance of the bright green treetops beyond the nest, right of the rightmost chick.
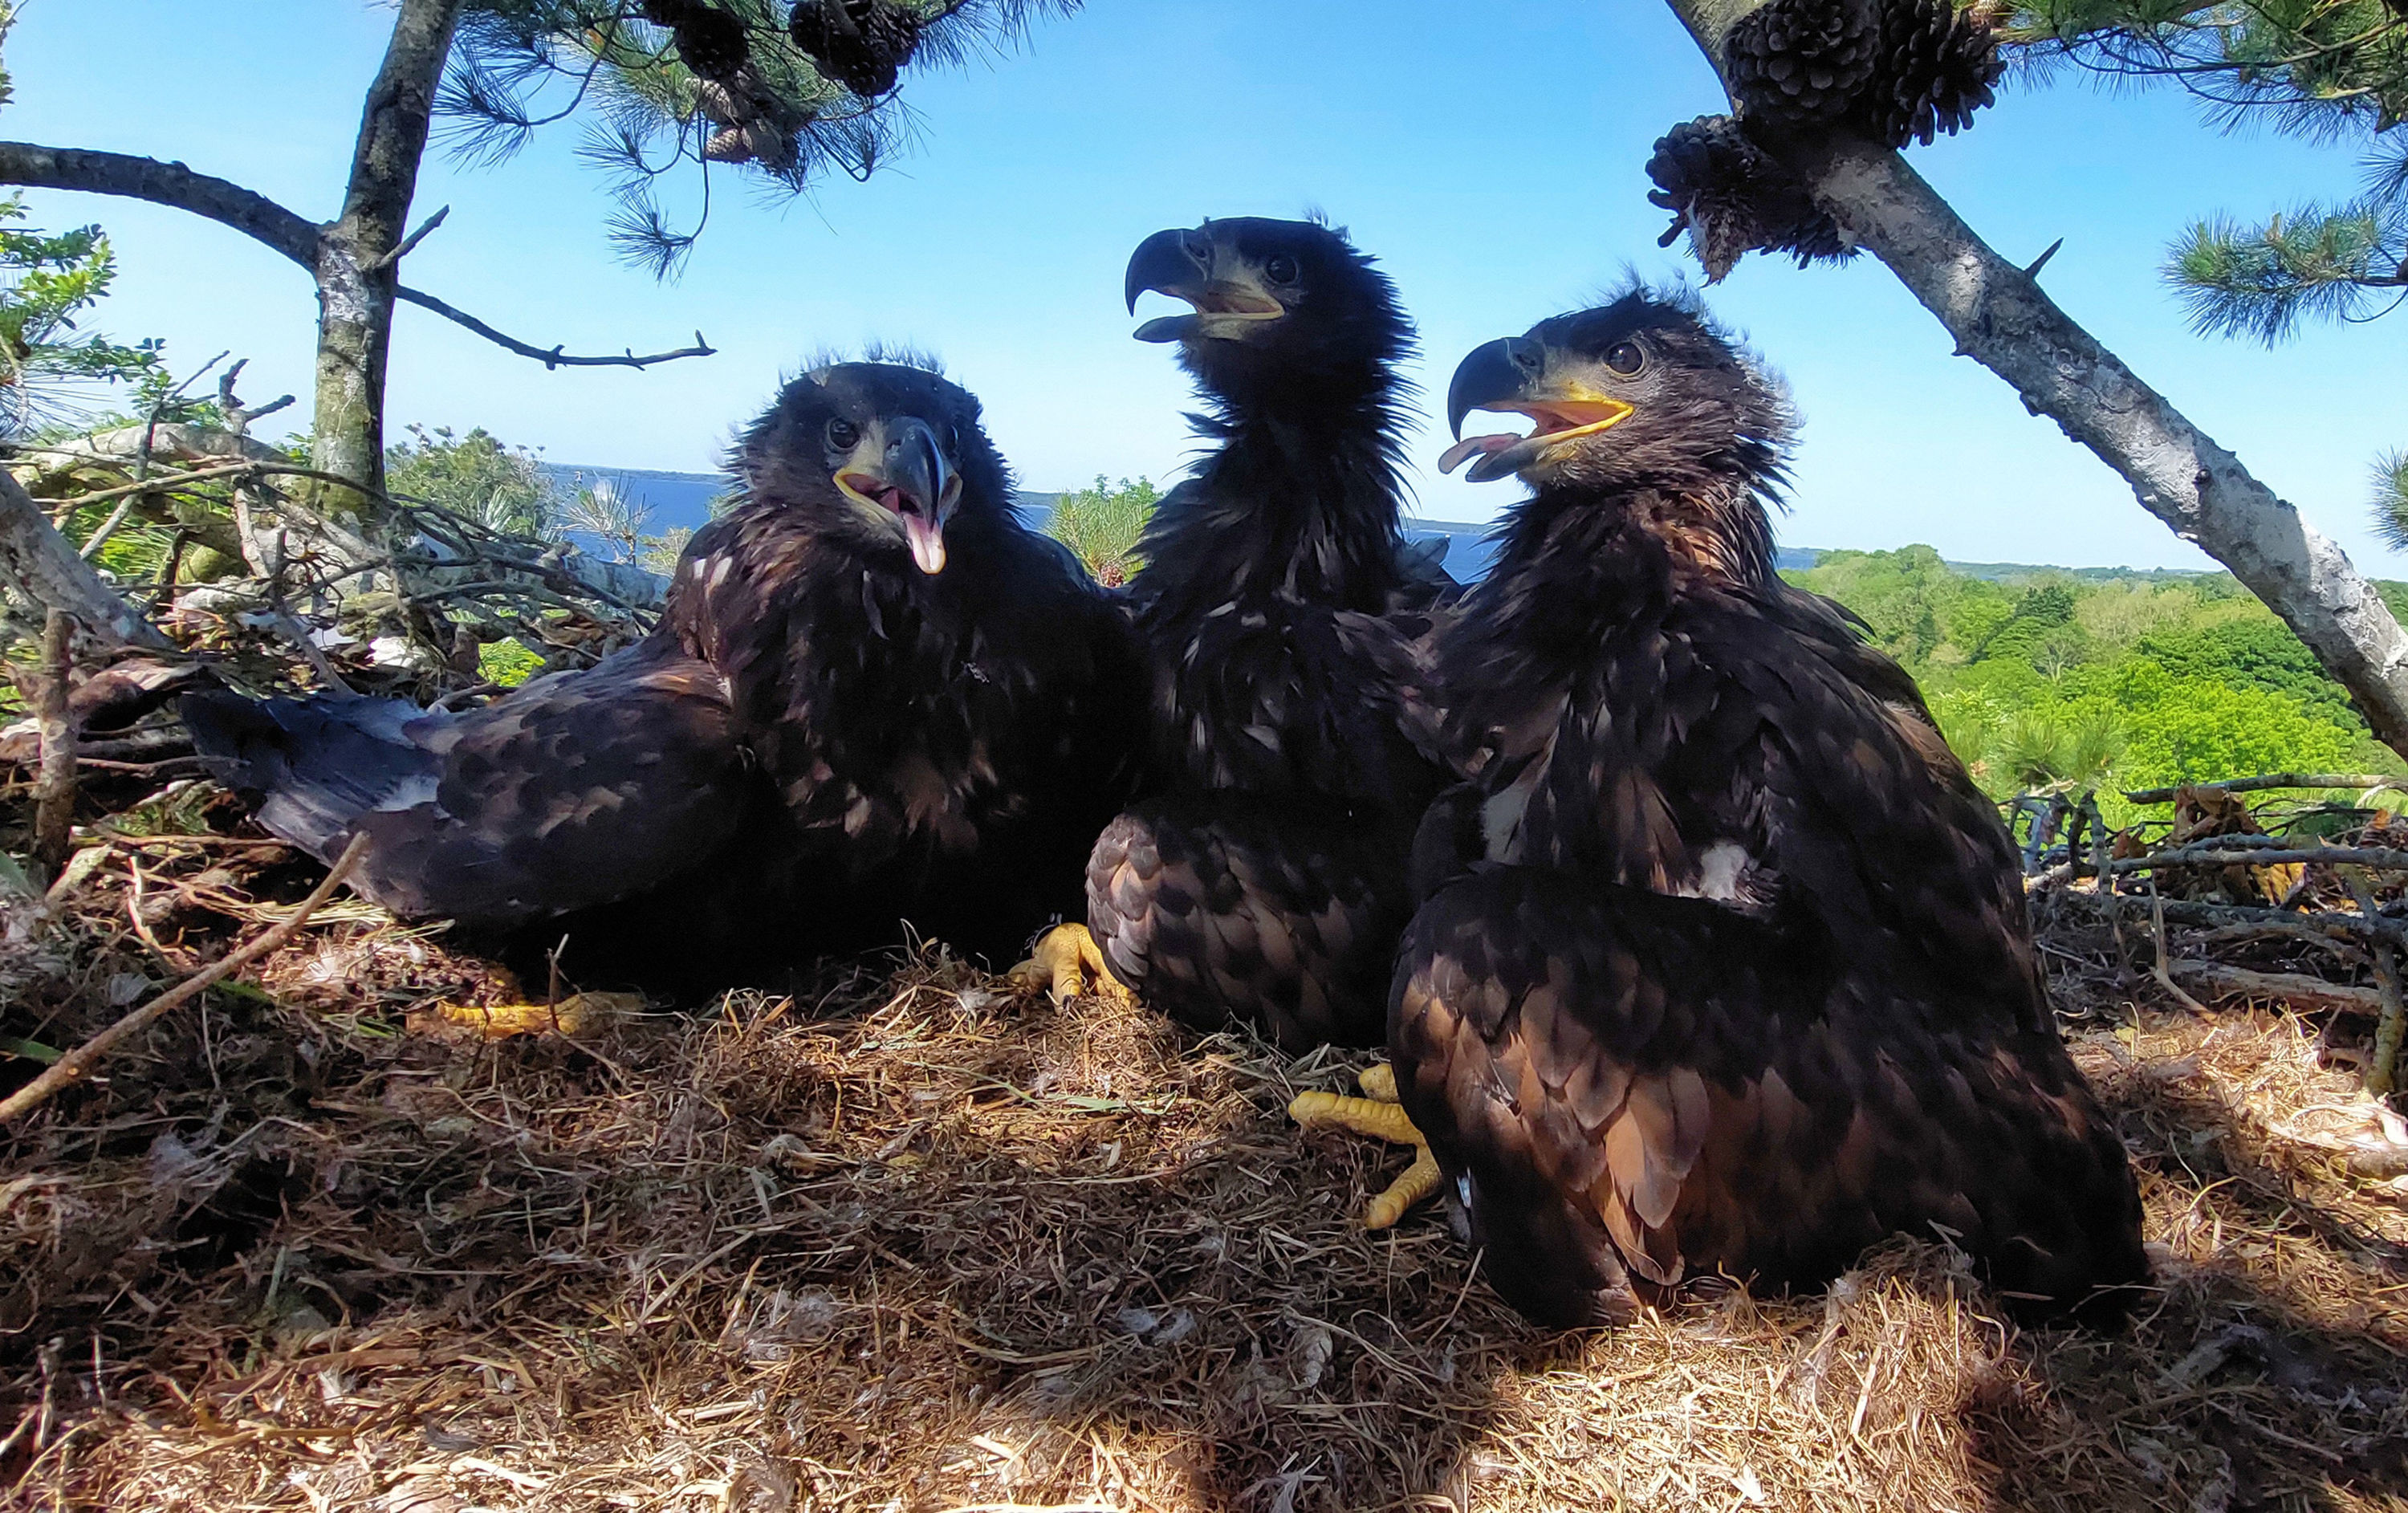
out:
{"label": "bright green treetops beyond the nest, right of the rightmost chick", "polygon": [[[1792,581],[1873,626],[1922,682],[1941,735],[2001,797],[2408,771],[2307,646],[2223,573],[1987,583],[1905,547],[1832,552]],[[2121,800],[2107,810],[2117,819]]]}

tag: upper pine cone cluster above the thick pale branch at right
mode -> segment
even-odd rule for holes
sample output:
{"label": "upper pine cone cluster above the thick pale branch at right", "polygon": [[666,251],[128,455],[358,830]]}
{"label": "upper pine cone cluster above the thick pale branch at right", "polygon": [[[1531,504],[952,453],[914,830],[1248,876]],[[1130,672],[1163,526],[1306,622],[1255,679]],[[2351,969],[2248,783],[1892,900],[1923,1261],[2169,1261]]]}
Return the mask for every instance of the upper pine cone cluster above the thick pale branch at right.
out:
{"label": "upper pine cone cluster above the thick pale branch at right", "polygon": [[1888,147],[1963,130],[2003,67],[1989,12],[1950,0],[1772,0],[1724,39],[1748,120],[1845,123]]}

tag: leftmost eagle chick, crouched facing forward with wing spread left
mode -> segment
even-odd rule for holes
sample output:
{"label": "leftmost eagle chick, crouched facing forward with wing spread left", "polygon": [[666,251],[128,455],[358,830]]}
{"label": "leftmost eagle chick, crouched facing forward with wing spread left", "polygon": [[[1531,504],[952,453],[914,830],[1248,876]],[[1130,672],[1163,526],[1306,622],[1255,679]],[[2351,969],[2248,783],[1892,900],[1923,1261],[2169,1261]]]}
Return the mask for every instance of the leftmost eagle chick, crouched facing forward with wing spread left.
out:
{"label": "leftmost eagle chick, crouched facing forward with wing spread left", "polygon": [[660,629],[600,667],[467,716],[188,699],[200,749],[318,858],[371,834],[371,899],[568,932],[571,969],[708,976],[903,918],[1011,952],[1076,906],[1125,793],[1117,612],[1014,518],[978,400],[934,373],[797,378],[732,470],[739,504],[689,542]]}

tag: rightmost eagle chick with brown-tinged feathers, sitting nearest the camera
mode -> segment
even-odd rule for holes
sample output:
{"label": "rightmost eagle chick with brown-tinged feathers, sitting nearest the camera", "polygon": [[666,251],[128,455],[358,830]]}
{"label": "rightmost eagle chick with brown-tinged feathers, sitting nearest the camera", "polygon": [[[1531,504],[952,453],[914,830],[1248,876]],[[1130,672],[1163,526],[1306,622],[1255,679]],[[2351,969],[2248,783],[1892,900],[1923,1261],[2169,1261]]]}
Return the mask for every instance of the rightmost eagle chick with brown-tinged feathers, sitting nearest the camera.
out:
{"label": "rightmost eagle chick with brown-tinged feathers, sitting nearest the camera", "polygon": [[1996,810],[1912,679],[1772,573],[1772,383],[1630,294],[1474,352],[1471,410],[1536,426],[1450,465],[1536,494],[1440,636],[1471,781],[1416,848],[1389,1034],[1488,1277],[1584,1323],[1938,1231],[2032,1311],[2141,1282]]}

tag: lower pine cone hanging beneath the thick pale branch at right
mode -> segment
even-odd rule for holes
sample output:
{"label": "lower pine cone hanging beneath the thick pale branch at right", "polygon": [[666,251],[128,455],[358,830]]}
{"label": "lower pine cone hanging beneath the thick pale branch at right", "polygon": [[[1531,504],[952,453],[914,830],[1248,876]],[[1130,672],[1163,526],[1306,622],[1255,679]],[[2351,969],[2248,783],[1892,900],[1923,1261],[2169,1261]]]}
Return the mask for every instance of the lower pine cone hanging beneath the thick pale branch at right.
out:
{"label": "lower pine cone hanging beneath the thick pale branch at right", "polygon": [[1755,248],[1789,253],[1799,265],[1854,255],[1806,186],[1729,116],[1700,116],[1657,137],[1647,178],[1657,183],[1647,202],[1674,212],[1657,246],[1671,246],[1688,231],[1707,284],[1719,284]]}

